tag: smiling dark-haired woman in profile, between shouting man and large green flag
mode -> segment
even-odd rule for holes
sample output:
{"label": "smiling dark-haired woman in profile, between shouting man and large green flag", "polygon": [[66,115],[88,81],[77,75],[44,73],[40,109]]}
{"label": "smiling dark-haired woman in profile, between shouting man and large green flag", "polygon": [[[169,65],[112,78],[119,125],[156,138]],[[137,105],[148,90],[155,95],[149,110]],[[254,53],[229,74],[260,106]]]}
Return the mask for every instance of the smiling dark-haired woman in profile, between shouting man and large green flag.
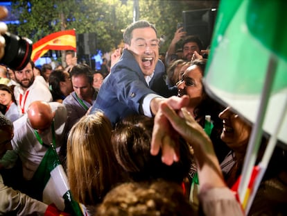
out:
{"label": "smiling dark-haired woman in profile, between shouting man and large green flag", "polygon": [[207,59],[205,58],[191,61],[191,65],[184,71],[182,79],[177,83],[177,96],[189,96],[191,100],[189,106],[186,108],[202,128],[205,128],[205,117],[210,116],[211,122],[214,125],[210,138],[214,144],[216,156],[222,162],[229,152],[227,145],[220,139],[223,122],[218,115],[224,110],[224,107],[214,99],[211,99],[205,91],[202,78],[205,75],[206,65]]}

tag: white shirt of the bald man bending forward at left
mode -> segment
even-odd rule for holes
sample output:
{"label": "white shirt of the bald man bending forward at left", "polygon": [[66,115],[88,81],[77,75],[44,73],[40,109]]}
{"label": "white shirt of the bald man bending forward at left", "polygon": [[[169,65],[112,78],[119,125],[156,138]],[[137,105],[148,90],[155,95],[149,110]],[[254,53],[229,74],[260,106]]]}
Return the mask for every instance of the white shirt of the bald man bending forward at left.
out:
{"label": "white shirt of the bald man bending forward at left", "polygon": [[[49,104],[53,112],[55,111],[55,144],[56,150],[60,151],[60,147],[65,142],[65,136],[67,134],[67,110],[62,103],[51,102]],[[37,140],[35,131],[28,122],[27,114],[13,122],[13,126],[15,134],[11,140],[13,150],[8,151],[3,156],[1,163],[3,165],[11,164],[15,162],[12,160],[17,160],[15,156],[19,156],[23,167],[23,176],[26,180],[30,180],[40,165],[47,148]],[[44,144],[51,144],[53,142],[51,127],[39,135]]]}

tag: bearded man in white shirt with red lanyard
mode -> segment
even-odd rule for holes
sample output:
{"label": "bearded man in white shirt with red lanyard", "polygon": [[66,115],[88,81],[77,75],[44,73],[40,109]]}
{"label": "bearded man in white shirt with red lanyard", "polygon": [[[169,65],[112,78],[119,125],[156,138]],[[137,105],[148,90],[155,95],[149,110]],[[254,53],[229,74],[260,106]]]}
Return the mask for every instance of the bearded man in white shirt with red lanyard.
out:
{"label": "bearded man in white shirt with red lanyard", "polygon": [[15,71],[15,80],[19,85],[15,86],[14,94],[20,115],[27,112],[28,106],[33,101],[52,101],[52,94],[40,80],[33,74],[34,64],[29,62],[21,71]]}

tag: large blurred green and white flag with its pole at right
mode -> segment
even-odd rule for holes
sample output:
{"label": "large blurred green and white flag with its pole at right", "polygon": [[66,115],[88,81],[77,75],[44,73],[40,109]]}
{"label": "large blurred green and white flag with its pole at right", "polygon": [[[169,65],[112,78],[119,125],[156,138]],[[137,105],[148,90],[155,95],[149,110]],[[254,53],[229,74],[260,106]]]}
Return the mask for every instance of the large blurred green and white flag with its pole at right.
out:
{"label": "large blurred green and white flag with its pole at right", "polygon": [[[274,145],[287,144],[286,8],[285,0],[222,0],[218,8],[204,82],[211,97],[253,123],[241,179],[245,183],[238,191],[241,203],[249,197],[245,186],[262,133],[275,136]],[[254,181],[261,180],[258,176],[263,175]]]}

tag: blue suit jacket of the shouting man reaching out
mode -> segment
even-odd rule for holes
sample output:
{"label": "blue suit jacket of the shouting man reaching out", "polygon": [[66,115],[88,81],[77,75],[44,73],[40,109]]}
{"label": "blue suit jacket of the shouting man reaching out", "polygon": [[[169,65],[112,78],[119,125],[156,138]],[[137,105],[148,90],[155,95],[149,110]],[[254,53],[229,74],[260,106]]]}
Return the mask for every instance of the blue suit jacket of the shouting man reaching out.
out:
{"label": "blue suit jacket of the shouting man reaching out", "polygon": [[159,60],[148,86],[132,53],[123,50],[119,62],[103,81],[91,113],[102,110],[113,126],[123,117],[140,113],[141,101],[147,94],[174,95],[168,90],[164,75],[164,64]]}

